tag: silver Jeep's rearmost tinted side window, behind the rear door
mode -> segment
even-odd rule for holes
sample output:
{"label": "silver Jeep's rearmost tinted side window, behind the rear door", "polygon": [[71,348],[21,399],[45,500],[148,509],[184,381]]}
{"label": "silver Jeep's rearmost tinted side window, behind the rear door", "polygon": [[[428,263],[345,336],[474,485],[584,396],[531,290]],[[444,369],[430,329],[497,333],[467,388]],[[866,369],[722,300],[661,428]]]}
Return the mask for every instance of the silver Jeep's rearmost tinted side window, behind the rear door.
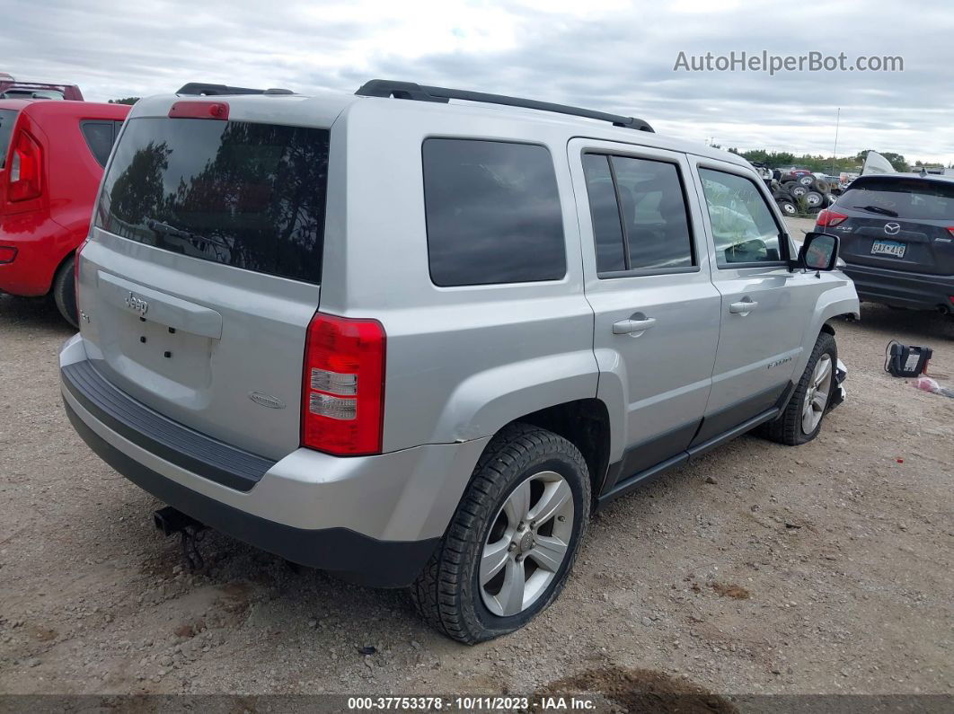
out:
{"label": "silver Jeep's rearmost tinted side window, behind the rear door", "polygon": [[427,254],[435,285],[558,280],[563,214],[546,147],[427,139]]}

